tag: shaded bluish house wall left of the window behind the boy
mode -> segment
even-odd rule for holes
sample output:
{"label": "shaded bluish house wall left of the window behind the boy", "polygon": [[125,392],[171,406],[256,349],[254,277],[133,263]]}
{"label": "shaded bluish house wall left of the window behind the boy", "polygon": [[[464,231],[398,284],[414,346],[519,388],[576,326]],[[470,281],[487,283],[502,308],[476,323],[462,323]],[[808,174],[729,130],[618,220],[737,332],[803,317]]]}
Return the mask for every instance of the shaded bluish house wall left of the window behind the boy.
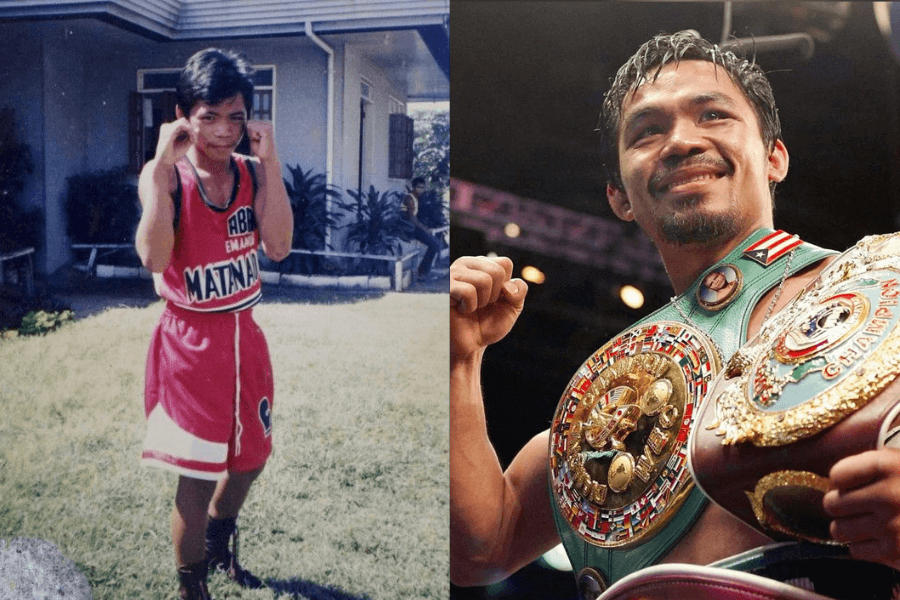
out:
{"label": "shaded bluish house wall left of the window behind the boy", "polygon": [[0,23],[0,105],[13,106],[35,159],[25,190],[45,214],[36,268],[70,260],[66,179],[127,162],[128,90],[134,57],[147,42],[96,21]]}

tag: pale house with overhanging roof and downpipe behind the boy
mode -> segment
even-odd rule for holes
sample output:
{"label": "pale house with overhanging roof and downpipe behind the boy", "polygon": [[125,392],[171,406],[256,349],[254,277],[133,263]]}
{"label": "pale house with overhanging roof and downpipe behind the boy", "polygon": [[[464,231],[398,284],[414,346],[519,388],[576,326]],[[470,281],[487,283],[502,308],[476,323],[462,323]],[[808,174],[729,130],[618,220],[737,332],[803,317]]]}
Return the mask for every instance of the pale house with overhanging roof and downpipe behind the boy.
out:
{"label": "pale house with overhanging roof and downpipe behind the boy", "polygon": [[173,74],[210,46],[257,67],[253,116],[274,123],[284,165],[343,190],[404,189],[409,119],[391,115],[449,100],[449,11],[449,0],[0,0],[0,107],[31,148],[25,195],[46,218],[37,271],[72,259],[66,178],[137,173],[174,116]]}

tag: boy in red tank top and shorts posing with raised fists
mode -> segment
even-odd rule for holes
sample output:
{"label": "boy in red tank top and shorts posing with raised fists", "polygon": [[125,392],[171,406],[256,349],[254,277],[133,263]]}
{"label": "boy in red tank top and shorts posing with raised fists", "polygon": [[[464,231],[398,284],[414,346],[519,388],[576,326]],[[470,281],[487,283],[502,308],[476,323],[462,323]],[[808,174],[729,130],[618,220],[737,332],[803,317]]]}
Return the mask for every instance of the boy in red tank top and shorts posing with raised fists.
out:
{"label": "boy in red tank top and shorts posing with raised fists", "polygon": [[[179,475],[172,541],[182,600],[210,597],[209,570],[263,585],[236,556],[238,512],[272,449],[272,367],[251,307],[259,249],[287,256],[293,219],[272,125],[248,120],[251,74],[233,52],[192,56],[177,120],[160,127],[139,183],[137,251],[166,300],[147,358],[142,464]],[[253,156],[235,153],[245,135]]]}

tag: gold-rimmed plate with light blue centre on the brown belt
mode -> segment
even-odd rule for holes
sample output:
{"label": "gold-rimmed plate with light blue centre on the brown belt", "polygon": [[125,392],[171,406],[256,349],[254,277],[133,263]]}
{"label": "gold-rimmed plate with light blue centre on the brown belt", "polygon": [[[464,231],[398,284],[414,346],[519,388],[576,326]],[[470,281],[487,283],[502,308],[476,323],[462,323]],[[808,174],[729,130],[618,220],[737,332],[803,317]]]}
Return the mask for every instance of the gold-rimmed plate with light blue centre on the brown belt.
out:
{"label": "gold-rimmed plate with light blue centre on the brown belt", "polygon": [[866,238],[761,329],[711,391],[726,445],[781,446],[865,406],[900,374],[900,238]]}

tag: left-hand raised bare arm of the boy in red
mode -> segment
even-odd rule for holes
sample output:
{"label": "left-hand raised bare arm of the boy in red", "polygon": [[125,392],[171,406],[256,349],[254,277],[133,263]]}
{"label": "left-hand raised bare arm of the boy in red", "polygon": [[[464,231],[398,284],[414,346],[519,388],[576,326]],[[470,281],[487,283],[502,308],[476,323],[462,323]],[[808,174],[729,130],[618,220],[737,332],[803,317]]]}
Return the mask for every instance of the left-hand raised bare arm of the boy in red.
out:
{"label": "left-hand raised bare arm of the boy in red", "polygon": [[143,211],[135,235],[141,263],[151,273],[165,271],[175,245],[175,163],[193,143],[187,119],[164,123],[159,128],[156,156],[144,165],[138,181]]}

